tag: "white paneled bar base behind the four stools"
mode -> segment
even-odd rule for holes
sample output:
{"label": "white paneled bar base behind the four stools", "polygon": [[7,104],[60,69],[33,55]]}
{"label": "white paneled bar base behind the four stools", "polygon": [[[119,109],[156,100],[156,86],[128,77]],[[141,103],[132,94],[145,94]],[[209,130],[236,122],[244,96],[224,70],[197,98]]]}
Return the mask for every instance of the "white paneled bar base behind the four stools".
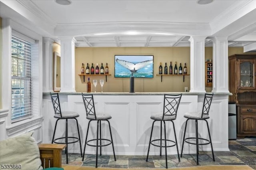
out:
{"label": "white paneled bar base behind the four stools", "polygon": [[[152,127],[151,115],[162,113],[164,93],[93,93],[96,113],[107,113],[112,116],[110,125],[114,140],[114,148],[116,154],[119,155],[146,155],[148,142],[150,138],[150,130]],[[178,94],[178,93],[166,93]],[[230,93],[214,93],[210,119],[208,123],[212,137],[214,151],[228,151],[228,95]],[[43,107],[43,142],[50,143],[56,119],[50,95],[44,93]],[[182,135],[186,119],[184,113],[191,111],[202,111],[202,103],[204,93],[183,93],[178,109],[177,119],[174,121],[176,135],[178,140],[178,148],[182,145]],[[76,111],[79,113],[78,123],[80,127],[80,135],[82,146],[84,146],[85,135],[88,126],[84,103],[81,93],[60,93],[60,103],[62,111]],[[76,135],[75,122],[68,123],[70,135]],[[102,121],[104,123],[104,121]],[[90,126],[88,139],[96,138],[96,121]],[[102,125],[102,138],[109,138],[108,124]],[[174,133],[171,123],[166,123],[167,138],[174,140]],[[204,122],[198,123],[199,136],[208,137],[208,131]],[[65,135],[65,122],[63,121],[56,130],[57,136]],[[155,124],[153,138],[159,138],[160,123]],[[191,122],[187,128],[186,136],[195,136],[195,123]],[[56,137],[57,137],[56,136]],[[150,154],[159,154],[160,148],[151,146]],[[79,153],[79,144],[70,144],[69,152]],[[102,148],[102,153],[113,154],[111,146]],[[210,151],[210,145],[203,145],[199,150]],[[163,150],[164,151],[164,150]],[[86,153],[95,154],[96,148],[86,146]],[[196,146],[184,144],[184,154],[196,153]],[[168,154],[176,154],[176,147],[168,148]]]}

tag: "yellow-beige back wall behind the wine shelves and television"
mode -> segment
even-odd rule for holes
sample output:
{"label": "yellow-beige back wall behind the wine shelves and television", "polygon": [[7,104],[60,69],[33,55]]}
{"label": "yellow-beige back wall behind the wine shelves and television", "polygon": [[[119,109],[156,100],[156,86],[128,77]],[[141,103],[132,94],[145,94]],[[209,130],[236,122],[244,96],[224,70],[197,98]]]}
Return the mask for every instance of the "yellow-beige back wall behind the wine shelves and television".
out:
{"label": "yellow-beige back wall behind the wine shelves and television", "polygon": [[[170,61],[174,67],[174,62],[177,61],[177,67],[179,63],[186,63],[188,68],[188,74],[190,74],[190,47],[76,47],[75,49],[75,62],[76,62],[76,91],[86,92],[86,80],[84,82],[82,76],[78,76],[81,73],[82,63],[86,65],[89,63],[96,63],[100,66],[103,63],[104,68],[108,63],[109,74],[107,81],[103,86],[104,92],[129,92],[130,91],[130,79],[129,78],[115,78],[114,77],[114,55],[154,55],[154,78],[135,78],[135,92],[180,92],[184,91],[184,87],[188,87],[190,90],[190,76],[185,77],[183,82],[182,76],[161,77],[156,76],[158,74],[158,68],[160,62],[162,65]],[[173,68],[174,69],[174,68]],[[93,79],[104,79],[104,76],[91,76],[90,81]],[[101,91],[101,87],[98,85],[96,91]],[[92,85],[92,91],[94,86]]]}

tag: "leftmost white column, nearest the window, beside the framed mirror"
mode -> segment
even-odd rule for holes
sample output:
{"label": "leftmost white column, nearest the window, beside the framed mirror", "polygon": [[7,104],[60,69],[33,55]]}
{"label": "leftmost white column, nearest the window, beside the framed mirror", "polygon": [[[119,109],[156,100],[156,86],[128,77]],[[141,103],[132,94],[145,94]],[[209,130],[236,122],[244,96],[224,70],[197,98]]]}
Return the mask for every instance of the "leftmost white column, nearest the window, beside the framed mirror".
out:
{"label": "leftmost white column, nearest the window, beside the framed mirror", "polygon": [[51,38],[43,38],[43,92],[53,92],[53,42]]}

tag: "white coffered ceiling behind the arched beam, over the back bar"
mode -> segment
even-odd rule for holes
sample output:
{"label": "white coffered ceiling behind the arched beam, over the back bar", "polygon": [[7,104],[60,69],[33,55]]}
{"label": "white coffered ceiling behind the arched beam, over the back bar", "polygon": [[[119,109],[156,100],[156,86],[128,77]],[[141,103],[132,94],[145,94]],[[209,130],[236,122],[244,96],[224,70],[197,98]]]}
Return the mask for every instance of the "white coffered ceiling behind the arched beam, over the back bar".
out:
{"label": "white coffered ceiling behind the arched beam, over the back bar", "polygon": [[[76,37],[77,47],[189,47],[189,36],[89,36]],[[229,47],[244,47],[253,41],[230,41]],[[212,40],[206,39],[205,46],[211,47]]]}

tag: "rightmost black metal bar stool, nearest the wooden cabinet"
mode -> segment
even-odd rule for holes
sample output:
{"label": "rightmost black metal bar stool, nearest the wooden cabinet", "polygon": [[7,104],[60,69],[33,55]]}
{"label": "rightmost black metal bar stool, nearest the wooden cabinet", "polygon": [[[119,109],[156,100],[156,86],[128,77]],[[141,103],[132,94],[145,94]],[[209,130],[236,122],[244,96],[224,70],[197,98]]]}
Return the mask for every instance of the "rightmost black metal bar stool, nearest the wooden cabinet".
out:
{"label": "rightmost black metal bar stool, nearest the wooden cabinet", "polygon": [[[211,139],[211,135],[210,135],[210,129],[209,129],[209,125],[208,125],[208,121],[207,119],[209,119],[209,111],[210,111],[210,106],[212,103],[212,98],[213,98],[213,94],[207,94],[205,93],[204,95],[204,105],[203,105],[203,109],[202,112],[187,112],[184,114],[184,117],[187,118],[186,120],[186,125],[185,125],[185,130],[184,130],[184,136],[183,136],[183,141],[182,141],[182,149],[181,149],[181,154],[180,157],[182,157],[182,151],[183,151],[183,146],[184,146],[184,141],[189,143],[189,144],[195,144],[196,145],[196,164],[198,165],[198,146],[199,145],[205,145],[205,144],[211,144],[211,148],[212,148],[212,139]],[[185,138],[185,134],[186,134],[186,128],[187,128],[187,123],[188,120],[195,120],[196,121],[196,137],[190,137],[190,138]],[[208,133],[209,133],[209,140],[206,138],[199,138],[198,137],[198,121],[205,121],[207,128],[208,128]],[[190,142],[190,139],[196,139],[196,143],[194,142]],[[203,140],[203,141],[207,141],[206,143],[199,143],[198,140]],[[213,148],[212,148],[212,158],[213,161],[215,161],[214,159],[214,153],[213,153]]]}

